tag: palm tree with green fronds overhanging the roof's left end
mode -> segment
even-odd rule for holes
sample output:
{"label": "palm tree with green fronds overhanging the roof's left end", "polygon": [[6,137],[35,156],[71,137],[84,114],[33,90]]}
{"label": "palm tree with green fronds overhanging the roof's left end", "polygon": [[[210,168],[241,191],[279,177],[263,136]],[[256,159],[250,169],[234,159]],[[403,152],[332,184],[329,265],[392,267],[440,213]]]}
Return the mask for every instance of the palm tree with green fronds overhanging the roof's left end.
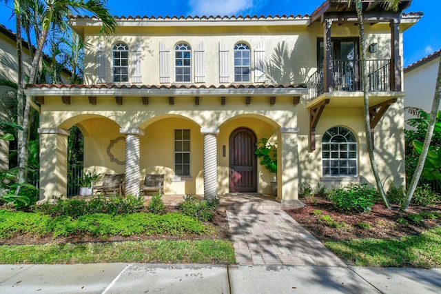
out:
{"label": "palm tree with green fronds overhanging the roof's left end", "polygon": [[[20,1],[20,0],[14,0]],[[15,3],[15,2],[14,2]],[[41,55],[43,55],[43,46],[45,45],[46,38],[48,37],[48,32],[51,26],[63,27],[63,21],[71,14],[79,14],[80,11],[92,12],[96,17],[99,17],[102,21],[102,26],[100,29],[100,34],[109,35],[114,32],[116,28],[116,21],[110,14],[109,10],[106,8],[106,0],[88,0],[84,2],[83,0],[45,0],[45,7],[43,10],[43,15],[41,15],[41,35],[37,41],[37,50],[35,51],[34,58],[32,59],[32,68],[29,77],[29,84],[35,84],[37,80],[37,70],[41,60]],[[20,11],[18,11],[20,12]],[[16,12],[17,15],[19,13]],[[17,32],[19,28],[17,25]],[[17,36],[18,39],[18,36]],[[31,101],[26,99],[25,108],[23,112],[23,132],[21,136],[21,148],[19,150],[20,162],[19,167],[21,168],[19,173],[19,183],[24,183],[26,179],[25,167],[28,166],[28,141],[29,141],[29,127],[30,127],[30,108]]]}

